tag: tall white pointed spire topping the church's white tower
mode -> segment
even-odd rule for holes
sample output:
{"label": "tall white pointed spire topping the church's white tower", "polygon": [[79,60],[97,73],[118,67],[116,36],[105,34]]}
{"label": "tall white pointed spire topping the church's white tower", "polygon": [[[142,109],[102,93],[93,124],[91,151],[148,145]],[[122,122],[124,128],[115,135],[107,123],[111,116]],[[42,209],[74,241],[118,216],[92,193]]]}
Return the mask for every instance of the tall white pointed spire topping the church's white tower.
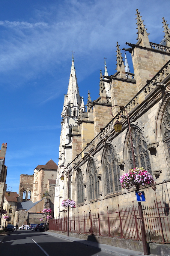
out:
{"label": "tall white pointed spire topping the church's white tower", "polygon": [[74,56],[72,56],[72,65],[71,65],[70,78],[69,78],[69,84],[68,84],[68,90],[67,90],[68,102],[70,104],[74,105],[75,94],[77,98],[77,104],[80,106],[81,99],[80,99],[79,88],[77,84],[76,70],[74,67]]}

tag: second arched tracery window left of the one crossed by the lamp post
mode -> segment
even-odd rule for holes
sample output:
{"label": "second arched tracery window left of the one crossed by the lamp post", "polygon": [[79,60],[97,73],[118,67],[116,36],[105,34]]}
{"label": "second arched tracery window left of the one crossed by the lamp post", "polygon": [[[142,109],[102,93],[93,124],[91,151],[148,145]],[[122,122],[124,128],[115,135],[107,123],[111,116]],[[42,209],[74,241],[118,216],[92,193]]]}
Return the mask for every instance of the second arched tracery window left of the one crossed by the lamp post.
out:
{"label": "second arched tracery window left of the one crossed by the lamp post", "polygon": [[99,179],[97,177],[96,164],[93,159],[90,160],[88,169],[89,198],[90,200],[99,197]]}

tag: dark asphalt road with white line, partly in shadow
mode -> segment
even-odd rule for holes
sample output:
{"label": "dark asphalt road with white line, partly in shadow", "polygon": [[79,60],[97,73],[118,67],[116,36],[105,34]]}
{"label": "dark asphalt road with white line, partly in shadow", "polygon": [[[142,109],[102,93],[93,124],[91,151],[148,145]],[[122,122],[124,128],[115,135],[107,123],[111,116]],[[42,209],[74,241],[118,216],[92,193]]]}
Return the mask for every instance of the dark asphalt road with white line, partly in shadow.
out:
{"label": "dark asphalt road with white line, partly in shadow", "polygon": [[31,230],[9,232],[0,243],[0,255],[10,256],[111,256],[112,254],[100,251],[76,242]]}

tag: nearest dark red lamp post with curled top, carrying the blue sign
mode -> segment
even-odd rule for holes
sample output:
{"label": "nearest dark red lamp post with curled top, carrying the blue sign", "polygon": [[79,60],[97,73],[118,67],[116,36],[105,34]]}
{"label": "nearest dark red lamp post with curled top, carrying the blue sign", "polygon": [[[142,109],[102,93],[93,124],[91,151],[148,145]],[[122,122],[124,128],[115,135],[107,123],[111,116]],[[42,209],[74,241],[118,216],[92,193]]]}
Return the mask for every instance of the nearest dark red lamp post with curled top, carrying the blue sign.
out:
{"label": "nearest dark red lamp post with curled top, carrying the blue sign", "polygon": [[[113,107],[120,107],[120,112],[118,112],[118,117],[114,117],[112,115],[112,108]],[[111,115],[112,117],[116,118],[117,121],[114,125],[114,128],[115,128],[115,131],[118,131],[120,132],[121,129],[120,129],[120,126],[122,128],[122,123],[118,121],[118,119],[121,117],[121,111],[122,109],[126,112],[127,114],[127,122],[128,122],[128,126],[129,126],[129,133],[130,133],[130,145],[131,145],[131,150],[132,150],[132,158],[133,158],[133,168],[136,168],[136,164],[135,164],[135,155],[134,155],[134,150],[133,150],[133,142],[132,142],[132,134],[131,134],[131,131],[130,131],[130,120],[129,120],[129,115],[126,111],[125,108],[123,108],[122,106],[119,106],[119,105],[114,105],[112,106],[110,112],[111,112]],[[136,191],[139,191],[139,185],[136,185]],[[148,255],[150,254],[149,251],[148,251],[148,245],[147,245],[147,241],[146,241],[146,231],[145,231],[145,223],[144,223],[144,219],[143,219],[143,211],[142,211],[142,204],[141,202],[138,202],[138,208],[139,208],[139,217],[140,217],[140,223],[141,223],[141,233],[142,233],[142,244],[143,244],[143,251],[144,251],[144,255]]]}

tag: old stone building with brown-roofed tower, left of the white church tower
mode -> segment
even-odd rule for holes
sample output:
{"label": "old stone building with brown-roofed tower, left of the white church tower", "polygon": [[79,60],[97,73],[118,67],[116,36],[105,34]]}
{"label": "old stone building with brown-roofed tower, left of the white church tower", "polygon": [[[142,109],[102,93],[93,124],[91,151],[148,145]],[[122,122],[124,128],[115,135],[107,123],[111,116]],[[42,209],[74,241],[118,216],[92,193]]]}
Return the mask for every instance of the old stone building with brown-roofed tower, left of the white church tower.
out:
{"label": "old stone building with brown-roofed tower, left of the white church tower", "polygon": [[52,209],[53,216],[57,169],[58,165],[51,159],[45,165],[38,165],[33,175],[20,175],[19,195],[12,214],[12,224],[39,224],[40,218],[45,218],[42,210],[46,207]]}

